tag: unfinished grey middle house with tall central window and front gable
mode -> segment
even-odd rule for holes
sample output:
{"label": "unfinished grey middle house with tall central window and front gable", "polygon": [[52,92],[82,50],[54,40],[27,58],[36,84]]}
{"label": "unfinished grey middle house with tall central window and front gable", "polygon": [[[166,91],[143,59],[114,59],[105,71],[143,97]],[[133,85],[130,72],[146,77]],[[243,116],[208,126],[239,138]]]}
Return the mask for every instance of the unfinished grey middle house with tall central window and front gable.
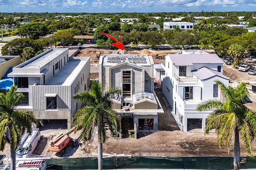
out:
{"label": "unfinished grey middle house with tall central window and front gable", "polygon": [[113,108],[120,119],[131,118],[134,132],[158,131],[158,114],[164,113],[154,92],[154,62],[147,55],[103,55],[99,61],[103,89],[122,88],[113,96]]}

